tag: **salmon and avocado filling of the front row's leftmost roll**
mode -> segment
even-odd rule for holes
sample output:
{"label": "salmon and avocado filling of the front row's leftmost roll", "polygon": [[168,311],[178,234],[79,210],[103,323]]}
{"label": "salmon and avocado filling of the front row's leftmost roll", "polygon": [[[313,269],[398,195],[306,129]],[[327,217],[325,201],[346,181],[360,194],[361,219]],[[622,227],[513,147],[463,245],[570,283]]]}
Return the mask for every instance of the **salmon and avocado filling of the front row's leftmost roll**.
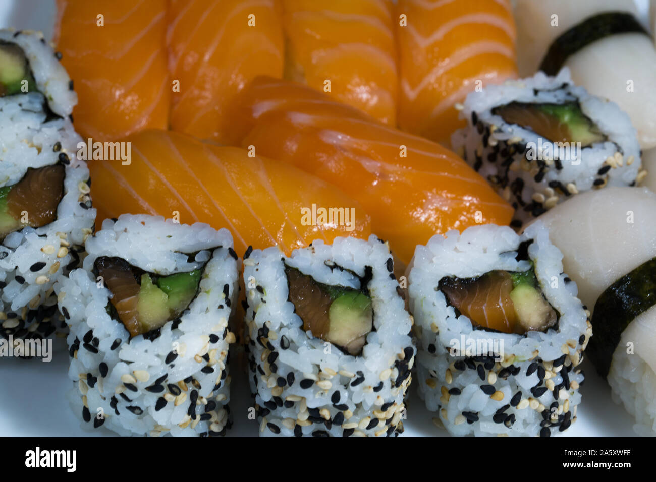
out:
{"label": "salmon and avocado filling of the front row's leftmost roll", "polygon": [[194,300],[203,274],[199,269],[159,276],[110,256],[97,258],[94,268],[112,292],[110,312],[115,311],[131,337],[180,317]]}

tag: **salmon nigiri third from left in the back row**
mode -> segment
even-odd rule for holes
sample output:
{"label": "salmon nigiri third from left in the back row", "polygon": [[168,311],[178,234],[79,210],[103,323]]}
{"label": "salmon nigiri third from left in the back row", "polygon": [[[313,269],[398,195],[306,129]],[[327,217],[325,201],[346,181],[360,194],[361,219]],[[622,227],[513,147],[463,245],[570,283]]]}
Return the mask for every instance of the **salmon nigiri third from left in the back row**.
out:
{"label": "salmon nigiri third from left in the back row", "polygon": [[394,125],[398,80],[391,1],[282,0],[282,5],[285,78]]}

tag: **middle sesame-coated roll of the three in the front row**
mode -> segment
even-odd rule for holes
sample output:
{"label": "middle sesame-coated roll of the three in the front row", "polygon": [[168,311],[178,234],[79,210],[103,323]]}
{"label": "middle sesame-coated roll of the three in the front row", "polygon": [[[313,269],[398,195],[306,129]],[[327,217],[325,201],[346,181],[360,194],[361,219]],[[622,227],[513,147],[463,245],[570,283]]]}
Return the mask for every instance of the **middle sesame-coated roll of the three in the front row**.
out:
{"label": "middle sesame-coated roll of the three in the front row", "polygon": [[260,435],[402,432],[415,348],[387,243],[247,251],[244,267]]}

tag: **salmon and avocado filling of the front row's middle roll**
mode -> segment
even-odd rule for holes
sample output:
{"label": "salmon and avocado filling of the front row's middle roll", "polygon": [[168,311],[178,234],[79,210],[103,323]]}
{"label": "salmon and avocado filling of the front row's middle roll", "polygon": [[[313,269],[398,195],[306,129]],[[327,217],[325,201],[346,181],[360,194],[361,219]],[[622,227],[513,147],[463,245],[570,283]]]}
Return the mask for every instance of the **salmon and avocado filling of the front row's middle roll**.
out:
{"label": "salmon and avocado filling of the front row's middle roll", "polygon": [[371,297],[363,289],[318,283],[296,268],[285,266],[289,300],[303,321],[303,330],[357,356],[373,330]]}

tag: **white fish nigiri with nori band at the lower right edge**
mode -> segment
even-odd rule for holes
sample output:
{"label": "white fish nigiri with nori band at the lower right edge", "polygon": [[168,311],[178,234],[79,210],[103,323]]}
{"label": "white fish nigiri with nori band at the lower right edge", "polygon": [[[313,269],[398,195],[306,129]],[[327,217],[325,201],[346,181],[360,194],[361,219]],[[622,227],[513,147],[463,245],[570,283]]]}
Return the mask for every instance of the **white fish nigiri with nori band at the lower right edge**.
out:
{"label": "white fish nigiri with nori band at the lower right edge", "polygon": [[[646,188],[585,193],[541,216],[592,308],[588,353],[615,403],[656,435],[656,194]],[[575,229],[572,229],[572,227]],[[594,249],[590,249],[593,246]]]}

